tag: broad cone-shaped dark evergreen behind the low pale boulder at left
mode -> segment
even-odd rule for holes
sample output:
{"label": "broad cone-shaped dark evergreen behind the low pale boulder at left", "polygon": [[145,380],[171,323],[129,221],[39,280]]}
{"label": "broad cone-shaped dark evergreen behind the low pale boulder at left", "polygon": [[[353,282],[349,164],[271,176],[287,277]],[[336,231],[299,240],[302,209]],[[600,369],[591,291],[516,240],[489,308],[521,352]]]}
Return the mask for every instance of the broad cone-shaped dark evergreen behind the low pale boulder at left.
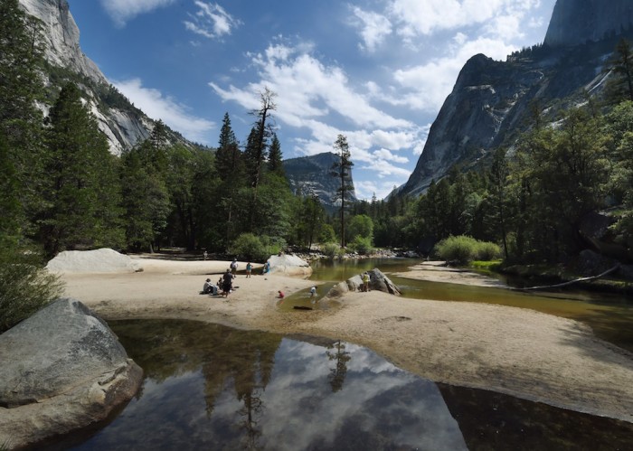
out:
{"label": "broad cone-shaped dark evergreen behind the low pale boulder at left", "polygon": [[[51,109],[45,158],[46,202],[40,239],[46,254],[96,244],[118,245],[118,183],[106,137],[69,83]],[[111,242],[111,241],[114,242]]]}

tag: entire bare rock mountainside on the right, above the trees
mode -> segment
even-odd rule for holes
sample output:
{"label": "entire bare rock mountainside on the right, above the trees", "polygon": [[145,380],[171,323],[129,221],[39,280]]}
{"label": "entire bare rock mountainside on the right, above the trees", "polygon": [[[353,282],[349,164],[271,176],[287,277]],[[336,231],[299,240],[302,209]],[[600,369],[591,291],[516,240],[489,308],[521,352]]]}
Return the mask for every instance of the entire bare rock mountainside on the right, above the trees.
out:
{"label": "entire bare rock mountainside on the right, above the trees", "polygon": [[[604,61],[620,31],[628,30],[632,7],[630,0],[558,0],[542,46],[506,61],[473,56],[460,71],[415,170],[398,193],[424,193],[453,165],[483,164],[491,149],[511,147],[529,123],[531,105],[553,118],[558,109],[583,101],[584,91],[600,91]],[[582,18],[572,19],[573,14]],[[585,25],[579,28],[578,23]]]}

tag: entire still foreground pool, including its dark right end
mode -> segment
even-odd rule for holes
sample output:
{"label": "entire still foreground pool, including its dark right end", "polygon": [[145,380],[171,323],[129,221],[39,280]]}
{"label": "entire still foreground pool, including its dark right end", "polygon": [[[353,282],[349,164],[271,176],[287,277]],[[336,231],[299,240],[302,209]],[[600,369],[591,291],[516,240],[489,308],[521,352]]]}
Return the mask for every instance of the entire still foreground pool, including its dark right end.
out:
{"label": "entire still foreground pool, including its dark right end", "polygon": [[39,449],[630,449],[633,425],[435,384],[352,343],[110,324],[145,371],[99,428]]}

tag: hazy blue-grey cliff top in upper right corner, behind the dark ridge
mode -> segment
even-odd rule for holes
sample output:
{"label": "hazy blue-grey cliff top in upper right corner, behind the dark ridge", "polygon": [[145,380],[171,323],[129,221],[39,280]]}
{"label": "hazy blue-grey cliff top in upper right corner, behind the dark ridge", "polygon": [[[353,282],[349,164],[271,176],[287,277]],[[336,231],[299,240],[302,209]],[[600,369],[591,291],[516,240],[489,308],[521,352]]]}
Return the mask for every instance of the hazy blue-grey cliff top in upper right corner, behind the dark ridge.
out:
{"label": "hazy blue-grey cliff top in upper right corner, behind the dark ridge", "polygon": [[557,0],[544,43],[551,47],[600,41],[633,27],[630,0]]}

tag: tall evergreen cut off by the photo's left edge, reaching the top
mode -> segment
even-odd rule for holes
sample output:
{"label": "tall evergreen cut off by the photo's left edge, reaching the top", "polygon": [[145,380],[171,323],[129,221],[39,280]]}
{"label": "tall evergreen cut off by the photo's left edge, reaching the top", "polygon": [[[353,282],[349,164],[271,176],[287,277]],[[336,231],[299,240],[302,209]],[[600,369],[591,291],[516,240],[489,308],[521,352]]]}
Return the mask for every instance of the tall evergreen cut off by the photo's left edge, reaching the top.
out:
{"label": "tall evergreen cut off by the photo's left edge, reaching the top", "polygon": [[29,233],[33,211],[41,209],[43,116],[43,33],[18,0],[0,2],[0,146],[2,197],[0,231],[17,242]]}

